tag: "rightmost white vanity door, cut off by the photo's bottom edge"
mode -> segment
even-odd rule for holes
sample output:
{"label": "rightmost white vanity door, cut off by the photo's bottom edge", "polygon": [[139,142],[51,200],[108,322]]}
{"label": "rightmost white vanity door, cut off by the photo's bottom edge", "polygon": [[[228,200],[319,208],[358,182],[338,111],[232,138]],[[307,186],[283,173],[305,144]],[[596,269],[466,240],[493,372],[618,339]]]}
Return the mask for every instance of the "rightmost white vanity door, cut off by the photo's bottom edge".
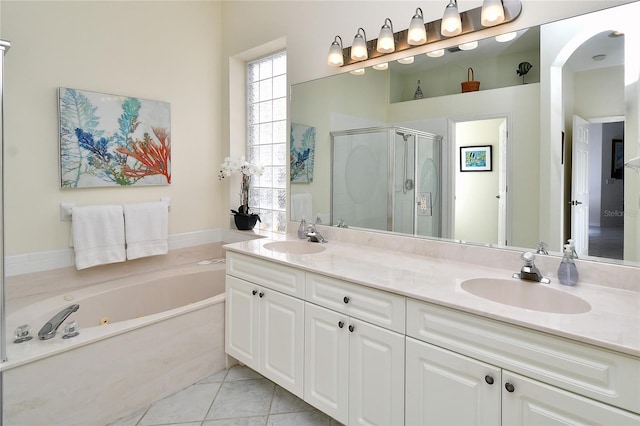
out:
{"label": "rightmost white vanity door, cut off by the photo's bottom edge", "polygon": [[502,424],[616,425],[640,424],[640,416],[537,382],[515,373],[502,374]]}

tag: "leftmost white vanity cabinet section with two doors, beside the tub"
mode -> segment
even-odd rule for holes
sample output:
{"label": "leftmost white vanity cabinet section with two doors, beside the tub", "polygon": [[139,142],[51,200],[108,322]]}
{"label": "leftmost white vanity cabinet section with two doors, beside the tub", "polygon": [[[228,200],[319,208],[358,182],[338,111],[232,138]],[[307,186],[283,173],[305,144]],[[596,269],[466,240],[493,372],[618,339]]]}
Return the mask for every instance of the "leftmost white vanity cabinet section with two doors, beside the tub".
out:
{"label": "leftmost white vanity cabinet section with two doors, beside the tub", "polygon": [[302,271],[227,253],[226,353],[300,398],[303,284]]}

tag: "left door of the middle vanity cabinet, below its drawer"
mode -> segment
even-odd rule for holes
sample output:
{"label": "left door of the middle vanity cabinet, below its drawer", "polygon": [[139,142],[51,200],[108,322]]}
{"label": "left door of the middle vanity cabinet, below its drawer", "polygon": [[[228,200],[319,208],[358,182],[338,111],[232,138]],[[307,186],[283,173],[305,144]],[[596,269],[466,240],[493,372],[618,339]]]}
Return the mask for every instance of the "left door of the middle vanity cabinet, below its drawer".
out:
{"label": "left door of the middle vanity cabinet, below its drawer", "polygon": [[304,400],[346,424],[349,331],[345,315],[305,304]]}

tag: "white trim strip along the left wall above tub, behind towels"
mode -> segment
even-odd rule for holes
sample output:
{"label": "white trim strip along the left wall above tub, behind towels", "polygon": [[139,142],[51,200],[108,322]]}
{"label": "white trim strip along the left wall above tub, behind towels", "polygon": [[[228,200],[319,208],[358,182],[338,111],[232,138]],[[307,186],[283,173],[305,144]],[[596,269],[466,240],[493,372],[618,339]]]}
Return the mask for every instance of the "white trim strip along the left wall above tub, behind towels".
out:
{"label": "white trim strip along the left wall above tub, behind towels", "polygon": [[[186,232],[169,236],[169,250],[199,246],[217,242],[226,242],[223,236],[229,233],[223,229],[208,229],[205,231]],[[50,269],[65,268],[74,265],[73,249],[41,251],[35,253],[6,256],[4,261],[5,275],[30,274]]]}

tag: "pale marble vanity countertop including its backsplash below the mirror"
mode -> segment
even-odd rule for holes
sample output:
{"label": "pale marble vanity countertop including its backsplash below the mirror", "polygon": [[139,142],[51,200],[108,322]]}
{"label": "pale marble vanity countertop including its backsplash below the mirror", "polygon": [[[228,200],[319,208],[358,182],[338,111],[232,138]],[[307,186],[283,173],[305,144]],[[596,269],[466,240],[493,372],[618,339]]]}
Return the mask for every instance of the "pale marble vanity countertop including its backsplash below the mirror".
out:
{"label": "pale marble vanity countertop including its backsplash below the mirror", "polygon": [[[295,227],[290,224],[290,229]],[[226,248],[640,356],[640,269],[579,261],[581,280],[576,287],[567,287],[555,276],[560,259],[538,256],[536,264],[544,276],[551,278],[550,288],[578,296],[590,305],[583,313],[549,313],[491,301],[462,288],[462,282],[474,278],[510,279],[513,272],[520,270],[519,252],[352,229],[319,229],[329,241],[319,253],[299,255],[269,250],[264,247],[269,240]]]}

